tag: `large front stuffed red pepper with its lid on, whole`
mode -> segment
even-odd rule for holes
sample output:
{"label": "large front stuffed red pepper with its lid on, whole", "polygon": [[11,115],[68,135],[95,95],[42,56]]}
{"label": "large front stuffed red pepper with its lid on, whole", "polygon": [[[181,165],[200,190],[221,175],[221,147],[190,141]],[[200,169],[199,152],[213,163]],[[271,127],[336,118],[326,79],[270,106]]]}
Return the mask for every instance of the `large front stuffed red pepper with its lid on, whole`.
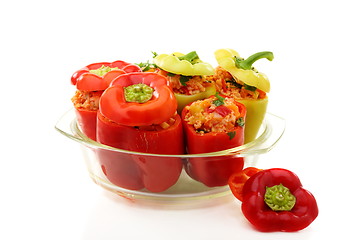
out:
{"label": "large front stuffed red pepper with its lid on, whole", "polygon": [[[97,141],[143,153],[183,154],[181,118],[165,77],[151,72],[117,77],[99,105]],[[127,189],[161,192],[174,185],[182,170],[176,157],[99,152],[105,175]]]}

